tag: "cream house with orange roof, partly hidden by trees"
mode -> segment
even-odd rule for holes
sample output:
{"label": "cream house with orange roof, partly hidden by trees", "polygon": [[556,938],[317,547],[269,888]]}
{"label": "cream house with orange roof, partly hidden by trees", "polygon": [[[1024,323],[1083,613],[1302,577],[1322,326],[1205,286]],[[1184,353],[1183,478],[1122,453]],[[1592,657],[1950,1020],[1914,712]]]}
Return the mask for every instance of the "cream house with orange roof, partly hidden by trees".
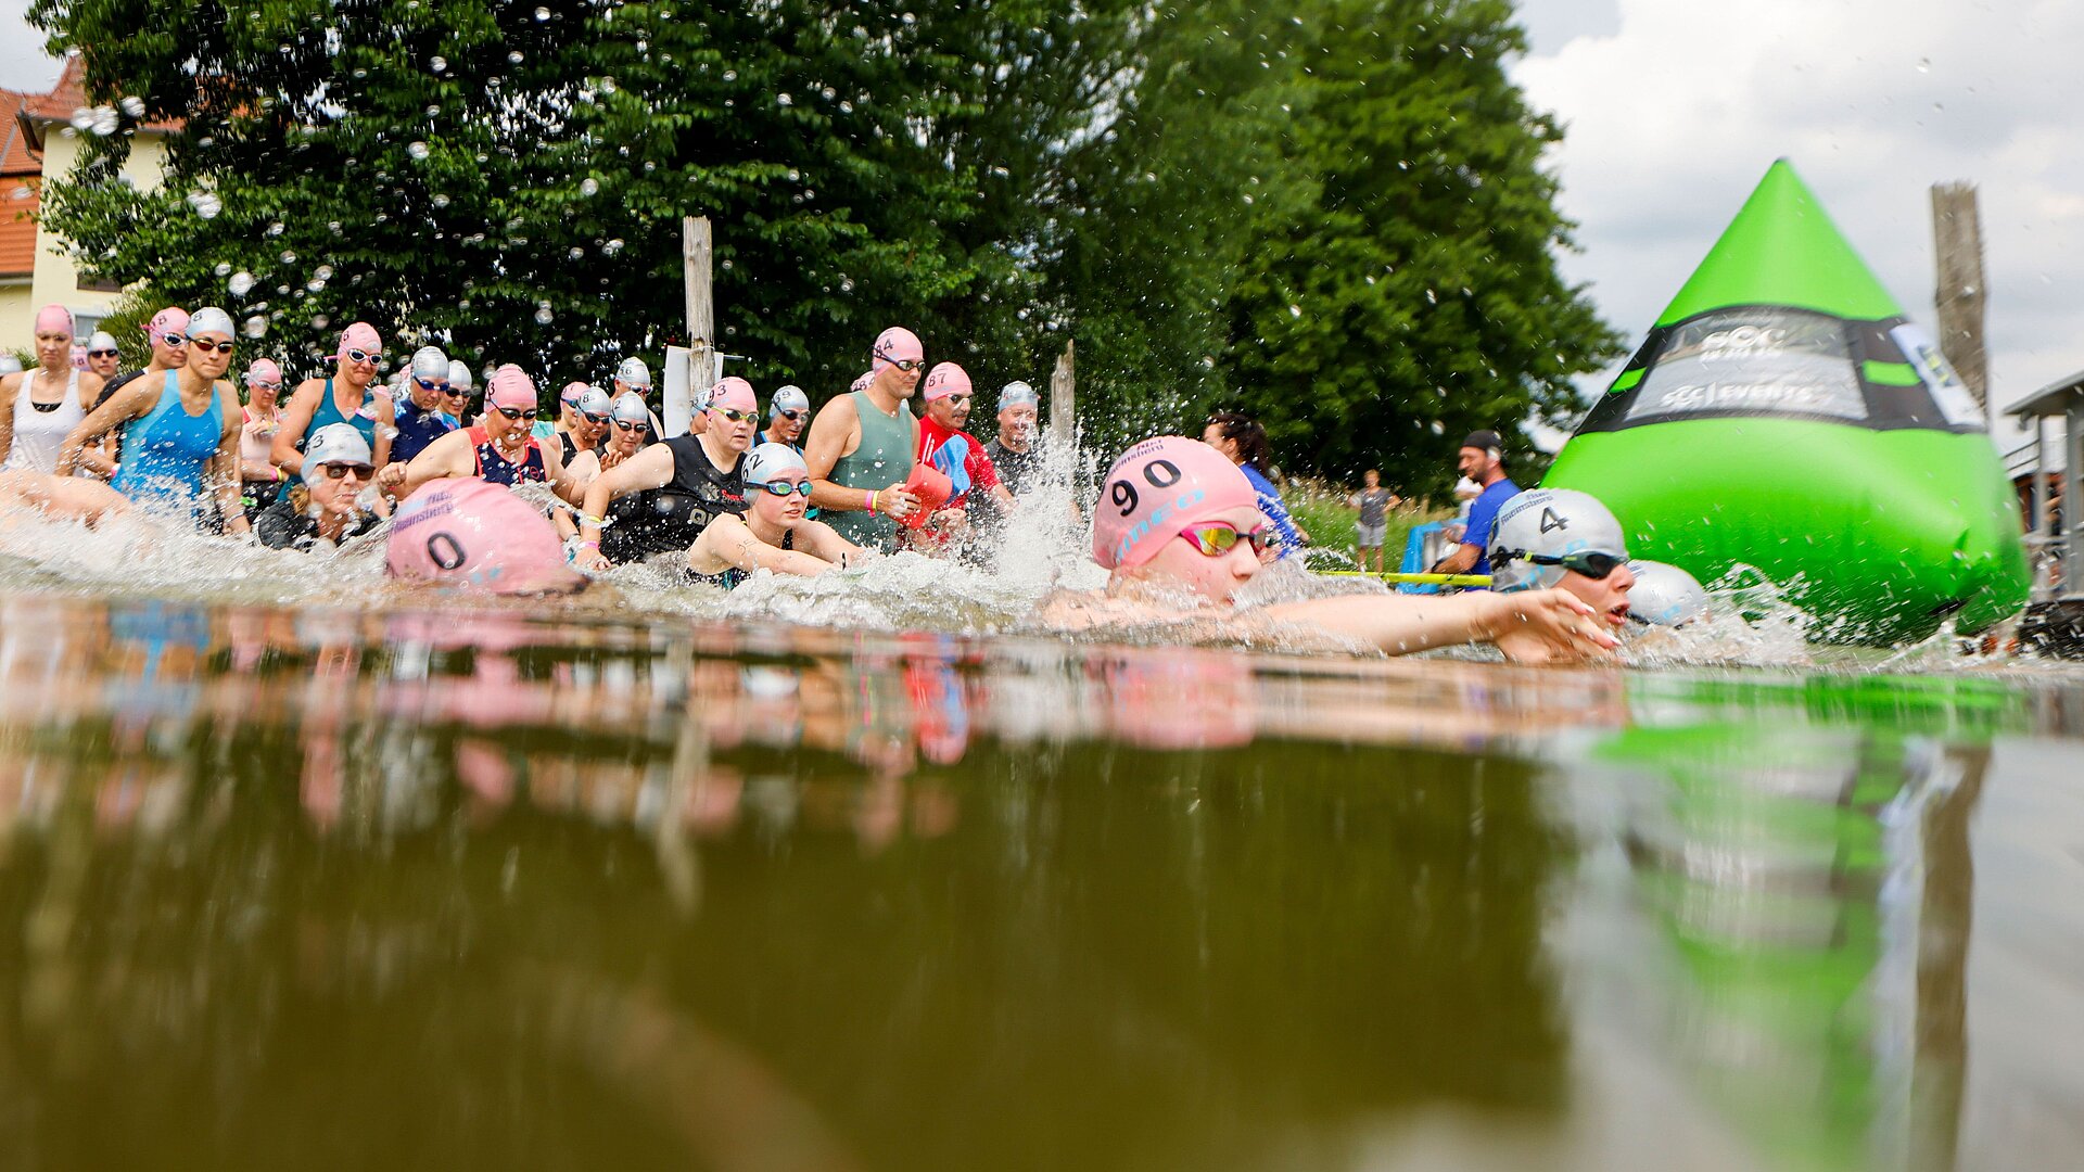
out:
{"label": "cream house with orange roof, partly hidden by trees", "polygon": [[[94,133],[79,58],[67,58],[65,73],[48,94],[0,90],[0,350],[25,350],[33,342],[38,307],[63,304],[73,311],[83,342],[115,307],[121,286],[79,273],[65,240],[44,231],[35,213],[42,192],[71,175],[79,161],[81,136]],[[131,133],[123,177],[138,190],[160,184],[167,136],[179,123],[144,123]]]}

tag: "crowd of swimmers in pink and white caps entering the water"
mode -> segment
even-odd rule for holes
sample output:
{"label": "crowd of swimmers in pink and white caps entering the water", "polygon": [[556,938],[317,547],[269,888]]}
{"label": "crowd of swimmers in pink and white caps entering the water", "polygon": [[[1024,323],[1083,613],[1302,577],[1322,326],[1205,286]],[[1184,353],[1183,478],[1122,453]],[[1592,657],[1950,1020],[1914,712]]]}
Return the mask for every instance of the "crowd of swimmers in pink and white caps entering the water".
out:
{"label": "crowd of swimmers in pink and white caps entering the water", "polygon": [[[327,369],[294,388],[275,361],[252,361],[244,394],[223,309],[165,309],[146,329],[144,369],[117,373],[106,334],[81,369],[71,315],[38,315],[38,367],[0,377],[0,505],[88,523],[148,505],[158,523],[171,513],[273,548],[369,534],[398,578],[513,594],[577,590],[636,561],[734,588],[898,551],[961,557],[1044,475],[1034,388],[1007,384],[996,436],[977,440],[965,430],[969,373],[927,367],[904,327],[884,329],[869,369],[815,413],[802,388],[775,390],[763,411],[750,382],[723,377],[694,398],[679,436],[661,434],[640,359],[604,388],[567,384],[546,413],[521,367],[490,369],[479,400],[469,367],[436,346],[386,382],[369,323],[348,325]],[[1057,590],[1040,621],[1198,615],[1232,634],[1305,628],[1392,655],[1494,642],[1521,661],[1617,646],[1636,584],[1621,528],[1573,492],[1528,492],[1500,515],[1496,590],[1240,609],[1240,588],[1307,540],[1265,471],[1263,432],[1232,413],[1198,440],[1130,446],[1092,503],[1107,588]]]}

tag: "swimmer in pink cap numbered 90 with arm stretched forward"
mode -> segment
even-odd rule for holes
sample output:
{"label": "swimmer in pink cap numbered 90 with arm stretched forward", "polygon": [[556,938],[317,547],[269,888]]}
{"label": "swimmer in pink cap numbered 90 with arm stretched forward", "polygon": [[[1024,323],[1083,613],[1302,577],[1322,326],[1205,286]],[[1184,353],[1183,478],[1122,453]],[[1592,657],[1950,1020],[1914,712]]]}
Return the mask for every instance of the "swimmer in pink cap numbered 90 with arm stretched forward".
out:
{"label": "swimmer in pink cap numbered 90 with arm stretched forward", "polygon": [[1596,613],[1563,590],[1519,594],[1361,594],[1277,603],[1236,613],[1238,588],[1259,573],[1255,546],[1271,526],[1252,484],[1230,457],[1200,440],[1159,436],[1107,469],[1092,557],[1113,571],[1105,596],[1059,592],[1042,607],[1055,628],[1196,617],[1177,596],[1198,599],[1200,617],[1236,634],[1292,626],[1361,640],[1388,655],[1459,642],[1494,642],[1509,659],[1548,663],[1607,655],[1617,640]]}

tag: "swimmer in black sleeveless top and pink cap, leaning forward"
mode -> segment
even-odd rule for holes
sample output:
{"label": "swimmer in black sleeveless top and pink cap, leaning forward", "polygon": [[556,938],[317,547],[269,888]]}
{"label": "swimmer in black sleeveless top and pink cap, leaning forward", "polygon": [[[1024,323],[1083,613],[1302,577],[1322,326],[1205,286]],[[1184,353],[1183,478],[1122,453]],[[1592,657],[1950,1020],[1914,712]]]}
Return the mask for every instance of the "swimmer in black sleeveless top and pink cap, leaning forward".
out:
{"label": "swimmer in black sleeveless top and pink cap, leaning forward", "polygon": [[[717,517],[746,511],[742,465],[759,423],[752,384],[727,377],[709,388],[704,402],[706,419],[698,432],[650,444],[594,480],[579,509],[573,565],[600,571],[659,553],[681,553]],[[629,411],[623,400],[617,409]],[[617,419],[617,432],[648,425]]]}

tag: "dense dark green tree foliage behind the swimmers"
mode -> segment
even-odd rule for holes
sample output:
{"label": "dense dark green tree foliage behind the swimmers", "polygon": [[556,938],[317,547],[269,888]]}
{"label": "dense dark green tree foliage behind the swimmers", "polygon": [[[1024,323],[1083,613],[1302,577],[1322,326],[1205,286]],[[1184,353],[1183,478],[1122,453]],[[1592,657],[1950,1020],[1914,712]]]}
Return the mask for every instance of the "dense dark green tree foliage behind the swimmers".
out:
{"label": "dense dark green tree foliage behind the swimmers", "polygon": [[[681,340],[846,386],[890,323],[979,388],[1080,342],[1098,444],[1257,411],[1292,469],[1425,486],[1471,425],[1569,409],[1615,338],[1555,273],[1557,140],[1503,0],[38,0],[77,48],[46,223],[148,304],[308,369],[369,319],[544,382]],[[179,119],[167,181],[117,181]],[[104,119],[102,125],[110,125]],[[1446,438],[1442,438],[1446,436]]]}

